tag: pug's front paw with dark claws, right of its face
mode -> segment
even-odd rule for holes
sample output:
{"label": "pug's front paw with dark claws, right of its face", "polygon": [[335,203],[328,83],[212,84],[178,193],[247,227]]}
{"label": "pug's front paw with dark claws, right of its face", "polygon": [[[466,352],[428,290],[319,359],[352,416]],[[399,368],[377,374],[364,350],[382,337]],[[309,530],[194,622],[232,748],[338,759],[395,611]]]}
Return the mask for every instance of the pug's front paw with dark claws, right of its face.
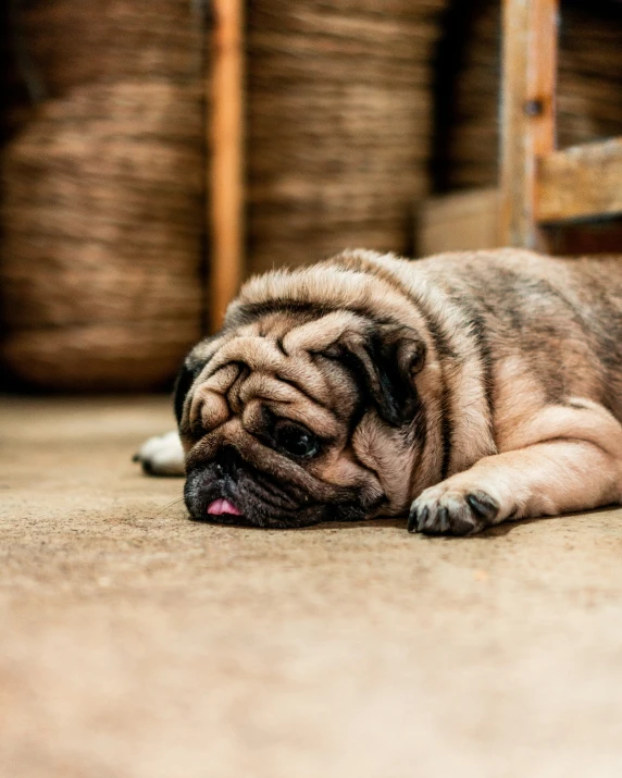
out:
{"label": "pug's front paw with dark claws, right of its face", "polygon": [[462,490],[449,482],[431,486],[410,509],[409,532],[472,535],[499,521],[499,502],[481,489]]}

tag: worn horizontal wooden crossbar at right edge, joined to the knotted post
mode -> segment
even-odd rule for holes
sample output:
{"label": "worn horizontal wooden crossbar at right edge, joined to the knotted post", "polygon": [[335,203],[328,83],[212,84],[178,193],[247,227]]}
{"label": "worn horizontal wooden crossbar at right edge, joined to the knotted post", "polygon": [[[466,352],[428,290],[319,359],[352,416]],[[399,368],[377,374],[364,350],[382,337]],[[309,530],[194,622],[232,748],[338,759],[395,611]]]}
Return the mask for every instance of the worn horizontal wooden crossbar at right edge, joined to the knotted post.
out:
{"label": "worn horizontal wooden crossbar at right edge, joined to the knotted post", "polygon": [[553,151],[537,164],[537,219],[622,214],[622,138]]}

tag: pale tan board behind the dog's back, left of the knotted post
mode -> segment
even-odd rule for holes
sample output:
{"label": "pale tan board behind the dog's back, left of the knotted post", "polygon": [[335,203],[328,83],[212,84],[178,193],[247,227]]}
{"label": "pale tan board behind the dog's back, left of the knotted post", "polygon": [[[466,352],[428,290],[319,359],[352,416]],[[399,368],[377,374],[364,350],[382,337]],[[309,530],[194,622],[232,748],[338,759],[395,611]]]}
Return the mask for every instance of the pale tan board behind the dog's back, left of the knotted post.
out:
{"label": "pale tan board behind the dog's back, left of the knotted post", "polygon": [[426,257],[441,251],[495,248],[499,245],[498,221],[497,189],[431,197],[416,214],[416,251]]}

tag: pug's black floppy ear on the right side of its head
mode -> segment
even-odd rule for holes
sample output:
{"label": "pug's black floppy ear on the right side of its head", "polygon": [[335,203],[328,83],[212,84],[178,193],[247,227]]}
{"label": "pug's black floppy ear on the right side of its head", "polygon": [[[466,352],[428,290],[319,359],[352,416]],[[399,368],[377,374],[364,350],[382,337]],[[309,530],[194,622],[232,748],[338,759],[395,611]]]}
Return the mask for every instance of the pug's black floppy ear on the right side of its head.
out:
{"label": "pug's black floppy ear on the right side of its head", "polygon": [[383,324],[362,334],[347,332],[325,355],[352,371],[388,424],[412,421],[420,406],[414,375],[425,361],[425,344],[414,330]]}

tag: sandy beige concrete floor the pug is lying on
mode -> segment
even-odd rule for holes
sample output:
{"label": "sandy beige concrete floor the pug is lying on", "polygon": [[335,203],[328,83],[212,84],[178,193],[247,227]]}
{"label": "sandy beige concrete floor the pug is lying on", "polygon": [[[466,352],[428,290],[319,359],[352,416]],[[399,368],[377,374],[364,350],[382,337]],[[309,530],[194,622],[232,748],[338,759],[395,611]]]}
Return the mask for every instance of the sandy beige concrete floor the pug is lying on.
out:
{"label": "sandy beige concrete floor the pug is lying on", "polygon": [[0,775],[622,775],[622,511],[189,521],[160,398],[0,404]]}

